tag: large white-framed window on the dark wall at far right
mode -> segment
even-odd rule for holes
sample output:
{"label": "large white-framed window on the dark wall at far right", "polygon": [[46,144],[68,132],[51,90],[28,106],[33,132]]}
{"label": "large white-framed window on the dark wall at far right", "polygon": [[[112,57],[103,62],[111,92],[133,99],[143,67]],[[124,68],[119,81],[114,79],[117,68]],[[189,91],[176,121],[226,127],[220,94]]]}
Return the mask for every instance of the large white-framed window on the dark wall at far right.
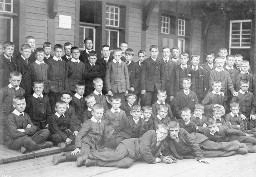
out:
{"label": "large white-framed window on the dark wall at far right", "polygon": [[230,48],[251,48],[252,20],[230,21]]}

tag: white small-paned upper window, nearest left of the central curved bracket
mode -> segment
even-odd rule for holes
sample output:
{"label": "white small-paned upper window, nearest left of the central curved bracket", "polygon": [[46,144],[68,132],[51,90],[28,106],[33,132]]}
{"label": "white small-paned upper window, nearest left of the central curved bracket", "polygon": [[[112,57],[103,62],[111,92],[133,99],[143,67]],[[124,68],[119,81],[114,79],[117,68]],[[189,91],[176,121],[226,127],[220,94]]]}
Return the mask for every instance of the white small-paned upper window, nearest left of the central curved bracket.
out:
{"label": "white small-paned upper window, nearest left of the central curved bracket", "polygon": [[116,6],[106,6],[106,26],[119,27],[120,8]]}

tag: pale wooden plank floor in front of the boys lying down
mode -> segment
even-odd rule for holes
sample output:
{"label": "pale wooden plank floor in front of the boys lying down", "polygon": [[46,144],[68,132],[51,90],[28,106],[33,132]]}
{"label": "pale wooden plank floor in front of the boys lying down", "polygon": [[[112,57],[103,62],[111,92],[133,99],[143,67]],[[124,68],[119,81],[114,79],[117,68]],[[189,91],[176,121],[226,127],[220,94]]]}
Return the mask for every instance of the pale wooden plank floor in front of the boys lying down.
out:
{"label": "pale wooden plank floor in front of the boys lying down", "polygon": [[255,177],[256,153],[207,158],[210,164],[196,159],[173,164],[136,162],[128,169],[114,167],[76,167],[76,162],[53,165],[52,155],[0,165],[0,177]]}

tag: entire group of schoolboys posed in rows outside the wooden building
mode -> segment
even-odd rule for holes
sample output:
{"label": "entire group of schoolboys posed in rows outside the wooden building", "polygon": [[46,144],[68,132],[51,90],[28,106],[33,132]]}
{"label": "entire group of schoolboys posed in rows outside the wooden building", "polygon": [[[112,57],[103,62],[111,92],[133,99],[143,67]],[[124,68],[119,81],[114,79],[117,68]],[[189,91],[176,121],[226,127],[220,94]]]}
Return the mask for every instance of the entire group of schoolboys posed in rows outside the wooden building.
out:
{"label": "entire group of schoolboys posed in rows outside the wooden building", "polygon": [[[256,145],[254,77],[242,56],[180,53],[158,46],[138,52],[126,42],[103,45],[97,59],[93,40],[86,49],[32,36],[13,60],[14,44],[2,44],[0,59],[0,143],[22,153],[53,144],[71,153],[53,156],[54,165],[127,168],[136,160],[175,163],[177,159],[224,157],[252,152]],[[170,55],[172,54],[172,58]],[[7,79],[8,78],[8,79]],[[140,101],[140,105],[138,104]],[[222,106],[224,105],[224,106]],[[228,108],[230,107],[230,109]],[[223,117],[225,116],[225,118]]]}

